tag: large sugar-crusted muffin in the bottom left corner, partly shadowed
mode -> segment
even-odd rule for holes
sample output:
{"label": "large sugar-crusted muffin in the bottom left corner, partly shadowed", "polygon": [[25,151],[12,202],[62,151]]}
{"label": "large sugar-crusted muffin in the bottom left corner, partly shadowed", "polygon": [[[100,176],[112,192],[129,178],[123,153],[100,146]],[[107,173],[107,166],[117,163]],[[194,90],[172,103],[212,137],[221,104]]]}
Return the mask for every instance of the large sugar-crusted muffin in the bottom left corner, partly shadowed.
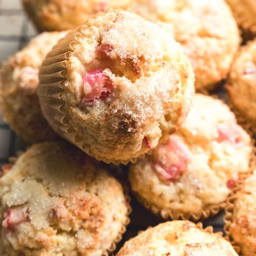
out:
{"label": "large sugar-crusted muffin in the bottom left corner, partly shadowed", "polygon": [[129,222],[122,186],[65,142],[33,145],[0,179],[1,255],[106,255]]}

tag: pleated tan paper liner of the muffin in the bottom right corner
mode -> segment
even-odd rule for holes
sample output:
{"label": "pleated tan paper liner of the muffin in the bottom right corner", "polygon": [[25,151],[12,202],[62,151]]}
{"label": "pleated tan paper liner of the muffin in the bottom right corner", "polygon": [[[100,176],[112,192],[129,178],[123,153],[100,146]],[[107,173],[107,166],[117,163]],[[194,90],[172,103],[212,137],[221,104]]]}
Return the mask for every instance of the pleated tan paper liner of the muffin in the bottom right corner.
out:
{"label": "pleated tan paper liner of the muffin in the bottom right corner", "polygon": [[227,235],[227,240],[230,241],[235,251],[240,254],[241,248],[237,241],[235,241],[230,232],[230,227],[233,222],[233,213],[234,213],[234,202],[237,200],[238,192],[244,187],[245,181],[248,177],[251,176],[253,170],[247,173],[240,173],[239,182],[234,186],[232,193],[227,198],[227,205],[225,208],[226,215],[224,217],[224,230]]}

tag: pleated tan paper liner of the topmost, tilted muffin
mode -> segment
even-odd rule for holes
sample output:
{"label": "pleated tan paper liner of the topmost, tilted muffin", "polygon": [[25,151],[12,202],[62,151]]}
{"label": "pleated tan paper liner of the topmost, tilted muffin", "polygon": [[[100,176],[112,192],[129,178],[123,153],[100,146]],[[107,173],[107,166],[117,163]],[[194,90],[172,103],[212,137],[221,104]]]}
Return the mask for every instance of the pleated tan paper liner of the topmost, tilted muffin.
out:
{"label": "pleated tan paper liner of the topmost, tilted muffin", "polygon": [[[53,47],[48,54],[39,73],[38,95],[40,96],[41,109],[50,126],[57,134],[75,144],[85,153],[93,156],[99,161],[113,164],[127,165],[129,162],[136,163],[138,157],[127,160],[113,160],[110,158],[97,156],[92,154],[89,147],[83,139],[76,134],[73,126],[69,124],[66,114],[63,111],[65,102],[60,98],[64,92],[64,82],[66,80],[67,64],[70,54],[75,50],[75,46],[79,44],[78,39],[84,36],[86,25],[80,26],[73,32],[70,32],[65,38],[60,39],[58,44]],[[144,158],[145,154],[139,156]]]}

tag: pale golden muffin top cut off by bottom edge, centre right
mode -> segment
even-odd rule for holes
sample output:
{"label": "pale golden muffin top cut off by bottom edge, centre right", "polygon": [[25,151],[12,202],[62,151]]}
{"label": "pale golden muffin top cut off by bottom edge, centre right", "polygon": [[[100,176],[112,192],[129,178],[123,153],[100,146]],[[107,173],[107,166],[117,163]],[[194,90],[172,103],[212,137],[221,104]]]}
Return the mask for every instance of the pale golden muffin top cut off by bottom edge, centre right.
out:
{"label": "pale golden muffin top cut off by bottom edge, centre right", "polygon": [[117,256],[233,256],[231,244],[221,234],[190,221],[174,220],[148,228],[127,241]]}

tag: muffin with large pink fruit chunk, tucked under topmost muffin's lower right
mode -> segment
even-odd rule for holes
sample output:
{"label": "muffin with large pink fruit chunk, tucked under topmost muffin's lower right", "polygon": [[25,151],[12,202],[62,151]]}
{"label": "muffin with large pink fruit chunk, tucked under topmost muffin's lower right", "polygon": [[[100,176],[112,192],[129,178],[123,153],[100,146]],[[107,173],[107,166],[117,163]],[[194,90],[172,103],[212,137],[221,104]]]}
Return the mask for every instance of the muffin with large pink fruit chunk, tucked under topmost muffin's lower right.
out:
{"label": "muffin with large pink fruit chunk, tucked under topmost muffin's lower right", "polygon": [[228,106],[196,94],[184,124],[131,165],[129,179],[153,213],[198,220],[224,207],[238,173],[248,171],[251,153],[250,136]]}

